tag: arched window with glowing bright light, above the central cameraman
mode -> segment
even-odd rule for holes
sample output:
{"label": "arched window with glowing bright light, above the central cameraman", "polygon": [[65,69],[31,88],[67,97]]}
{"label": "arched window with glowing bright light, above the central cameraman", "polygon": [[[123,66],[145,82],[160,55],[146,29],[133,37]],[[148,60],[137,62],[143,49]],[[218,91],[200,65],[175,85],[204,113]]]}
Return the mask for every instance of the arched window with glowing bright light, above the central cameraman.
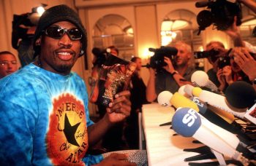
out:
{"label": "arched window with glowing bright light, above the central cameraman", "polygon": [[[190,44],[192,51],[202,51],[203,42],[197,35],[198,25],[196,15],[187,9],[177,9],[169,12],[162,20],[161,41],[162,46],[173,45],[175,42],[184,41]],[[192,59],[197,69],[203,70],[203,59]]]}

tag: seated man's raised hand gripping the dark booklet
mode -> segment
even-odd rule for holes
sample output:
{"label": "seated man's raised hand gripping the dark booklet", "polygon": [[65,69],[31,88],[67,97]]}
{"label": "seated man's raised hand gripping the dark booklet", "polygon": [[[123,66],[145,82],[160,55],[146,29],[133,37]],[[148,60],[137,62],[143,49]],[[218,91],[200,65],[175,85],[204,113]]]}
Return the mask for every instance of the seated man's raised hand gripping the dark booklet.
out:
{"label": "seated man's raised hand gripping the dark booklet", "polygon": [[109,108],[106,109],[110,123],[121,122],[129,116],[131,111],[129,95],[129,90],[119,92],[115,95],[115,99],[109,104]]}

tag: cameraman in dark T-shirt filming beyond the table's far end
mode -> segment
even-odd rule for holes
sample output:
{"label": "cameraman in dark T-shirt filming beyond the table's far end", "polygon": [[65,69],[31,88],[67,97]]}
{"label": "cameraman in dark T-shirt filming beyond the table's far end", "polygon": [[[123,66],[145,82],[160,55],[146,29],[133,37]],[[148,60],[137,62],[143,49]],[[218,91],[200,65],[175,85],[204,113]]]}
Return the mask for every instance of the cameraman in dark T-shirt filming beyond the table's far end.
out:
{"label": "cameraman in dark T-shirt filming beyond the table's far end", "polygon": [[182,85],[192,84],[189,81],[195,68],[189,66],[189,60],[192,58],[191,47],[184,42],[176,42],[174,47],[178,53],[173,63],[165,57],[167,63],[167,66],[163,67],[165,70],[156,72],[154,68],[149,68],[150,76],[146,88],[148,102],[156,100],[157,95],[164,90],[174,93]]}

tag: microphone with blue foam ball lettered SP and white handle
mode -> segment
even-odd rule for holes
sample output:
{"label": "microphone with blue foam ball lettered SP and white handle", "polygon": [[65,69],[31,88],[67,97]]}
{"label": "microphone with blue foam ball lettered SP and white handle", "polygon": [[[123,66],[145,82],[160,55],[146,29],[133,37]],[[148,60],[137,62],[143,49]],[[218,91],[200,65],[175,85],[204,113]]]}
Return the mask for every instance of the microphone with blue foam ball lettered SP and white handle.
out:
{"label": "microphone with blue foam ball lettered SP and white handle", "polygon": [[211,149],[240,161],[243,165],[249,165],[249,159],[254,159],[254,155],[248,149],[241,147],[236,135],[209,122],[192,108],[178,108],[173,115],[172,125],[176,133],[184,137],[193,137]]}

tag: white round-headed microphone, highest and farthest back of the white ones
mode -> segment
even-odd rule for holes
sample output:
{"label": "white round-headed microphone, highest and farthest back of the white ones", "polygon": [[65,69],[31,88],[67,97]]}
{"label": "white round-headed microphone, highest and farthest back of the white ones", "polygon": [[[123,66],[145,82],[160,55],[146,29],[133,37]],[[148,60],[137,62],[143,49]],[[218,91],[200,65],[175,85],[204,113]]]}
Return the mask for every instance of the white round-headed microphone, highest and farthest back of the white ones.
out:
{"label": "white round-headed microphone, highest and farthest back of the white ones", "polygon": [[209,80],[204,71],[195,71],[191,76],[191,82],[197,87],[207,87],[211,92],[218,92],[217,86]]}

